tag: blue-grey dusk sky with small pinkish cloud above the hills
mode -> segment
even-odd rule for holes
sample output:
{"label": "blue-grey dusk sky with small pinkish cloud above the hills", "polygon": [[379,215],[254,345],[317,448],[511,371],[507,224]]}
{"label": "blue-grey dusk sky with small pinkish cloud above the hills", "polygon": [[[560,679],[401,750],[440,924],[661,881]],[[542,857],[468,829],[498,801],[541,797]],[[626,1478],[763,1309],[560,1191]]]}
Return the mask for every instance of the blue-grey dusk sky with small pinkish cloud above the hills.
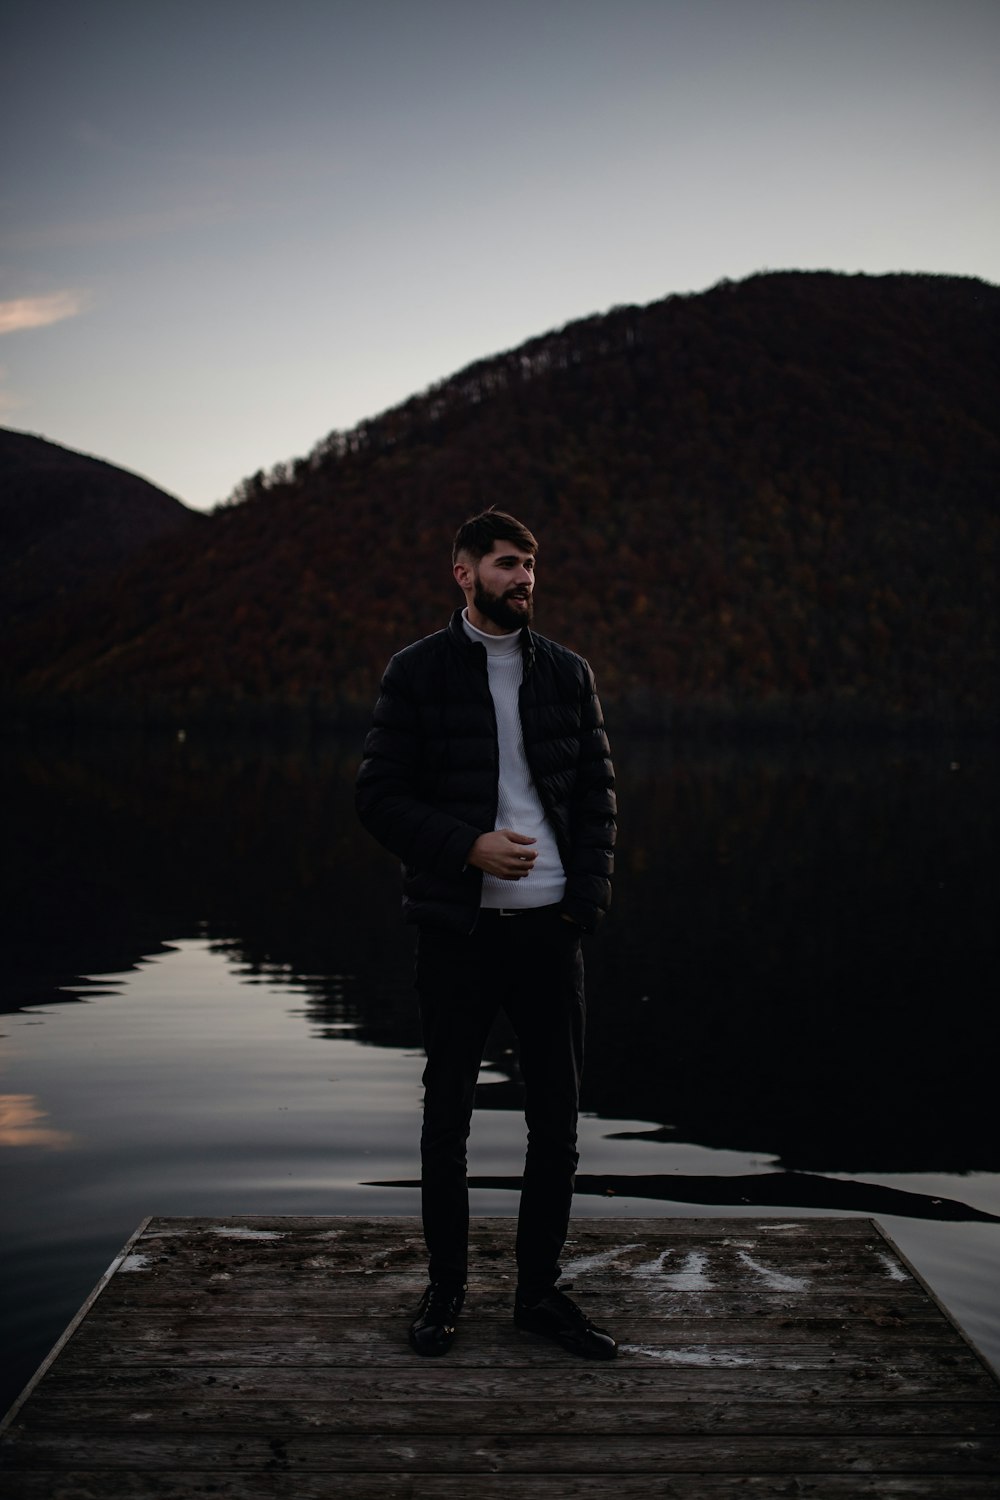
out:
{"label": "blue-grey dusk sky with small pinkish cloud above the hills", "polygon": [[6,0],[0,423],[210,507],[759,270],[1000,282],[999,0]]}

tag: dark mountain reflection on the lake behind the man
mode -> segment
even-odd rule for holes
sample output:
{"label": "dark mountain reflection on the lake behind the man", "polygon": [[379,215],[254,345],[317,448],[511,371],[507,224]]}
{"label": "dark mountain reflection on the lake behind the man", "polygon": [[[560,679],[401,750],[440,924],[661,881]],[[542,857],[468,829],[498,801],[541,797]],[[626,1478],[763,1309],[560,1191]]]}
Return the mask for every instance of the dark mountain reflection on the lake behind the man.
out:
{"label": "dark mountain reflection on the lake behind the man", "polygon": [[[984,746],[670,750],[619,736],[616,900],[588,945],[585,1107],[810,1172],[997,1170]],[[6,756],[7,1008],[171,936],[294,986],[316,1035],[417,1047],[394,862],[357,744]],[[492,1107],[520,1107],[499,1028]],[[486,1102],[486,1096],[483,1100]]]}

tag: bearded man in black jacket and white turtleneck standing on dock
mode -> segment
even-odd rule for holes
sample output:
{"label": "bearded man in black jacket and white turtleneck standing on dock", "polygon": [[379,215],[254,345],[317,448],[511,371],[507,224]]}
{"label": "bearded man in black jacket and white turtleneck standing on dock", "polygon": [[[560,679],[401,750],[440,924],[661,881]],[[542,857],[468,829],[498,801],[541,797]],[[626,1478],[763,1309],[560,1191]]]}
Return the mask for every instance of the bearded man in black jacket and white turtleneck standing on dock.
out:
{"label": "bearded man in black jacket and white turtleneck standing on dock", "polygon": [[529,628],[537,550],[499,510],[459,528],[466,608],[388,663],[357,782],[361,820],[403,862],[418,928],[420,1354],[447,1353],[465,1299],[466,1142],[498,1010],[517,1035],[528,1124],[514,1323],[585,1358],[618,1352],[556,1290],[577,1164],[580,936],[610,903],[615,772],[588,663]]}

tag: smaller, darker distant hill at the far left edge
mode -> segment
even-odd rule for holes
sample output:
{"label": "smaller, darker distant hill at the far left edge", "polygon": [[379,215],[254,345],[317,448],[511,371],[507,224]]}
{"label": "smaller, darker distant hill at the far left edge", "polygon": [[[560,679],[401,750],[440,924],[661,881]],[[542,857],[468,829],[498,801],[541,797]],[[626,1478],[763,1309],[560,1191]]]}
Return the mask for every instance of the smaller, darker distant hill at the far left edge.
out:
{"label": "smaller, darker distant hill at the far left edge", "polygon": [[147,480],[0,428],[0,618],[49,614],[199,516]]}

